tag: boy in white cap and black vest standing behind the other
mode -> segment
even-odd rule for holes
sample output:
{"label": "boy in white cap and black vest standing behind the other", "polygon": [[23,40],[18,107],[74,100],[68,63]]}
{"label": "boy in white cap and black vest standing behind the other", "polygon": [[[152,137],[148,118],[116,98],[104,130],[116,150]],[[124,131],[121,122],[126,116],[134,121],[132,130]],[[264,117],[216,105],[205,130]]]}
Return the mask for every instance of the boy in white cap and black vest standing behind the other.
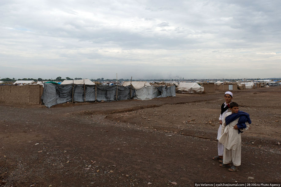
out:
{"label": "boy in white cap and black vest standing behind the other", "polygon": [[[233,94],[231,92],[225,92],[224,94],[224,100],[225,102],[221,106],[221,112],[219,115],[219,129],[218,129],[218,135],[217,139],[219,140],[219,137],[221,136],[221,128],[222,128],[222,123],[223,123],[223,118],[225,114],[227,113],[229,109],[229,104],[232,102],[231,100],[233,99]],[[213,156],[213,160],[222,160],[223,159],[223,144],[219,143],[218,141],[218,156]]]}

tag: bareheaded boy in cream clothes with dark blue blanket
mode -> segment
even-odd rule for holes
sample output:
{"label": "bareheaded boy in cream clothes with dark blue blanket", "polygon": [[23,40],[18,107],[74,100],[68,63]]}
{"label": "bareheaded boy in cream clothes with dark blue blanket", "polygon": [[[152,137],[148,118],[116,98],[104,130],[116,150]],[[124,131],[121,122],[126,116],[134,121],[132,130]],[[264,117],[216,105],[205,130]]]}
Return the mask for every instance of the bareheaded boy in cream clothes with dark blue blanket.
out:
{"label": "bareheaded boy in cream clothes with dark blue blanket", "polygon": [[[225,115],[222,123],[222,136],[219,142],[224,145],[223,163],[219,166],[230,167],[229,171],[236,171],[237,166],[241,165],[241,134],[249,129],[251,119],[249,114],[239,110],[237,103],[230,103],[230,110]],[[231,161],[233,166],[231,166]]]}

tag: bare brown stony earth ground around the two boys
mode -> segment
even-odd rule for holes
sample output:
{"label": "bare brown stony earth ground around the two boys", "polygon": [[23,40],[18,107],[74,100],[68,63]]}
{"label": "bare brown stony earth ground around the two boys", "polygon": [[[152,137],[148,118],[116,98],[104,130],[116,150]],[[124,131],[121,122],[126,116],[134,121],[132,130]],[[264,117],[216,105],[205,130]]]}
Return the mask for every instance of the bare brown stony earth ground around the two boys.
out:
{"label": "bare brown stony earth ground around the two boys", "polygon": [[237,172],[211,159],[217,155],[223,94],[69,103],[50,109],[2,103],[0,186],[281,182],[278,87],[234,91],[233,101],[253,122],[242,134]]}

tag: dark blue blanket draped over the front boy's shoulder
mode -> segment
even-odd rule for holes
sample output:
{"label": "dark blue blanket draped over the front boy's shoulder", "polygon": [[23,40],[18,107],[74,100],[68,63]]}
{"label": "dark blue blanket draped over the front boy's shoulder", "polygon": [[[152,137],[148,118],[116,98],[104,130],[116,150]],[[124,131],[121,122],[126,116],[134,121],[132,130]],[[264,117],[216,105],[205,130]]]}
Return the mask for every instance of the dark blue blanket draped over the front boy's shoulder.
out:
{"label": "dark blue blanket draped over the front boy's shoulder", "polygon": [[240,129],[245,129],[247,127],[245,123],[246,122],[248,122],[249,124],[252,123],[250,119],[250,115],[247,112],[238,110],[238,113],[232,113],[225,118],[226,125],[230,124],[230,122],[233,122],[237,118],[239,118],[238,123],[236,124],[238,127],[238,134],[243,133],[240,131]]}

